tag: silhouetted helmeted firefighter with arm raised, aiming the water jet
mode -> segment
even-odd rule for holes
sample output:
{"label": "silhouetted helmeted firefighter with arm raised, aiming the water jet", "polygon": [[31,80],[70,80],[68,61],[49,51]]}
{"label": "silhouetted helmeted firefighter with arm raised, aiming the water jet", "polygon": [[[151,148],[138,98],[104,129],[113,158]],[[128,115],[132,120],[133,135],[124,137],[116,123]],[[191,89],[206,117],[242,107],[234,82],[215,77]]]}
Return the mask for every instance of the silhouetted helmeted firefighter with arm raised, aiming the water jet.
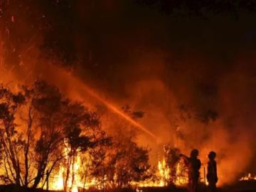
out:
{"label": "silhouetted helmeted firefighter with arm raised, aiming the water jet", "polygon": [[188,166],[188,189],[191,192],[198,191],[199,170],[201,168],[201,161],[197,158],[198,154],[198,149],[193,149],[190,157],[181,154],[184,163]]}

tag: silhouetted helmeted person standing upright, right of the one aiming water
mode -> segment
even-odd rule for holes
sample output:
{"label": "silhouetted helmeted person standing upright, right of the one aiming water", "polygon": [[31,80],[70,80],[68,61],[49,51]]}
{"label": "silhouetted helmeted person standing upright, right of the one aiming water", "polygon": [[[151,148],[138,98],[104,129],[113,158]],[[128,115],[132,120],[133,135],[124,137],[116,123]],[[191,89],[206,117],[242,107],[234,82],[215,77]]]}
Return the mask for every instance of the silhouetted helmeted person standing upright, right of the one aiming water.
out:
{"label": "silhouetted helmeted person standing upright, right of the one aiming water", "polygon": [[208,154],[208,166],[207,166],[207,181],[208,181],[208,188],[210,192],[216,191],[216,183],[218,182],[217,176],[217,165],[216,161],[214,160],[216,157],[216,153],[214,151],[210,151]]}

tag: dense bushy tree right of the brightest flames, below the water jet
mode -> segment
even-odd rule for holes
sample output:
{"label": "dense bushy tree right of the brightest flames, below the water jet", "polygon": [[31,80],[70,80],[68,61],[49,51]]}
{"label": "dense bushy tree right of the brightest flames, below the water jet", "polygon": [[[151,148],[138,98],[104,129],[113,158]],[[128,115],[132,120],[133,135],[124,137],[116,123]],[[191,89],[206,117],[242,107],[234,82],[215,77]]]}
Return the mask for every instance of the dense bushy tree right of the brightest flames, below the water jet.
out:
{"label": "dense bushy tree right of the brightest flames, below the water jet", "polygon": [[[144,112],[132,110],[129,105],[122,110],[134,121],[144,117]],[[151,176],[149,173],[149,149],[138,146],[134,139],[137,137],[137,129],[132,125],[120,124],[119,131],[114,138],[114,147],[111,158],[114,176],[112,180],[117,187],[129,186],[132,181],[144,181]]]}

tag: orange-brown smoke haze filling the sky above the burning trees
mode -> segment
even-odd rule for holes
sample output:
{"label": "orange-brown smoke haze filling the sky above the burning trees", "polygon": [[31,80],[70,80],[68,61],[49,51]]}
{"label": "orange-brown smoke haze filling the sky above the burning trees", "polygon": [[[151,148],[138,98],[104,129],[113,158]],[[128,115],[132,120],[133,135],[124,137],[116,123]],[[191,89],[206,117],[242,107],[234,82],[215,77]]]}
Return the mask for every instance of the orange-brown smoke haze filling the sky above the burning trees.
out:
{"label": "orange-brown smoke haze filling the sky above the burning trees", "polygon": [[152,161],[167,142],[198,148],[204,165],[214,150],[220,182],[235,181],[256,171],[255,14],[183,2],[1,1],[2,81],[43,78],[103,107],[90,87],[145,112],[140,123],[159,140],[142,132],[137,141]]}

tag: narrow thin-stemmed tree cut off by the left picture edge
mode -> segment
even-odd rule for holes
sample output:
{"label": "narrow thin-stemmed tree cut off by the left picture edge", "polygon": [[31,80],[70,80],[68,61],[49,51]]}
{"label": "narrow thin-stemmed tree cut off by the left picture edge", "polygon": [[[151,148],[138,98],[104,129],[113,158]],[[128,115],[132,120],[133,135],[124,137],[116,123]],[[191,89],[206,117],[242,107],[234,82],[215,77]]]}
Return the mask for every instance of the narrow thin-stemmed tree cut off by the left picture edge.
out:
{"label": "narrow thin-stemmed tree cut off by the left picture edge", "polygon": [[21,150],[24,144],[22,134],[16,131],[15,114],[23,105],[25,98],[21,92],[13,93],[0,87],[0,143],[3,147],[3,161],[6,178],[9,183],[24,185],[21,173]]}

